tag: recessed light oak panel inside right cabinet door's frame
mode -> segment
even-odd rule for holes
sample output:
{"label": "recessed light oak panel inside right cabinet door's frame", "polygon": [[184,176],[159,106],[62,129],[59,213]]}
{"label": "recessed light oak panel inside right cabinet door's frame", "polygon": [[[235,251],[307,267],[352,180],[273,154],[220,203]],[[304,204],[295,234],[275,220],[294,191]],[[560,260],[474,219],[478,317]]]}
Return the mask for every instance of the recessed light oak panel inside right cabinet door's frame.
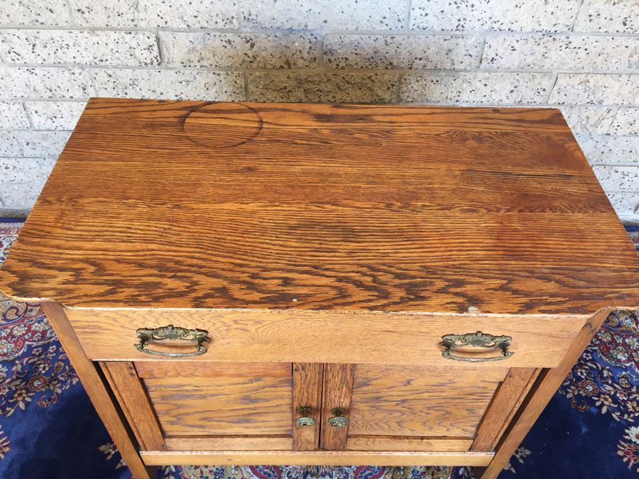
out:
{"label": "recessed light oak panel inside right cabinet door's frame", "polygon": [[357,365],[349,436],[472,439],[508,368]]}

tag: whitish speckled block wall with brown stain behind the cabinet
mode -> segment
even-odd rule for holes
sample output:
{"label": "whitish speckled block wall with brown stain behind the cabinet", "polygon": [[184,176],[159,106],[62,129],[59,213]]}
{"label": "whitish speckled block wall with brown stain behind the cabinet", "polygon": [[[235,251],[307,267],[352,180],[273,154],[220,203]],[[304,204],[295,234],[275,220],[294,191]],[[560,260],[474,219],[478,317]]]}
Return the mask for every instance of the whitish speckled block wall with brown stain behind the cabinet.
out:
{"label": "whitish speckled block wall with brown stain behind the cabinet", "polygon": [[0,0],[0,214],[92,96],[559,106],[639,221],[638,0]]}

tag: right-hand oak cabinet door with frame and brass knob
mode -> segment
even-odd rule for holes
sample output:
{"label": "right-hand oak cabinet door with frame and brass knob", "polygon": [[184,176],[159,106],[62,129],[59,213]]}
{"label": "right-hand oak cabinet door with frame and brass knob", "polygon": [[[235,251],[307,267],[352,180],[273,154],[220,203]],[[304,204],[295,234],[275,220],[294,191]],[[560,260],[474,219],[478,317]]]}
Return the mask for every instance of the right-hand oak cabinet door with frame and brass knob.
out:
{"label": "right-hand oak cabinet door with frame and brass knob", "polygon": [[322,448],[490,451],[538,373],[510,371],[325,365]]}

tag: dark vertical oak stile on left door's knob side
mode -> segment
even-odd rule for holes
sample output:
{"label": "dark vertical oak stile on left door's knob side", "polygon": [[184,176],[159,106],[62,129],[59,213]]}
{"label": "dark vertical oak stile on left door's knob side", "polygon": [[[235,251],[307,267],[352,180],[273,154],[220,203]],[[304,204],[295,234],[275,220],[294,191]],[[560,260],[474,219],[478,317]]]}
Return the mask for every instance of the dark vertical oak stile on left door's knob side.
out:
{"label": "dark vertical oak stile on left door's knob side", "polygon": [[320,447],[322,426],[322,382],[324,365],[320,363],[293,363],[293,414],[301,417],[301,407],[310,408],[305,417],[315,420],[313,426],[293,426],[293,450],[315,451]]}

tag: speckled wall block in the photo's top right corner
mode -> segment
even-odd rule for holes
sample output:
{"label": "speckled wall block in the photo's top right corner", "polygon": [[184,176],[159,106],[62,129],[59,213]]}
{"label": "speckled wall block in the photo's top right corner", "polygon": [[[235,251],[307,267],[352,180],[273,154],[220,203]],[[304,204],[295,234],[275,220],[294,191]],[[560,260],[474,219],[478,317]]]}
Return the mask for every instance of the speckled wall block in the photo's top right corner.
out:
{"label": "speckled wall block in the photo's top right corner", "polygon": [[639,33],[639,3],[637,0],[585,0],[574,31]]}

